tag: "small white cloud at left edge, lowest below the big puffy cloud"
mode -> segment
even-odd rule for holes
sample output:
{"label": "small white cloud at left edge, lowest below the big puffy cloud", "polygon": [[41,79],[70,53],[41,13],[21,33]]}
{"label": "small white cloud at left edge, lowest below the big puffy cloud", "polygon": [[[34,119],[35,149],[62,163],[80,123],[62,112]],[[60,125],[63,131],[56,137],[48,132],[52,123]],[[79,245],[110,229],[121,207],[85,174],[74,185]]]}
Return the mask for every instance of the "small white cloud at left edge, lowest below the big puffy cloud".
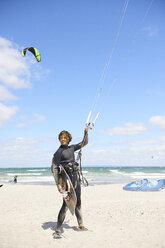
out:
{"label": "small white cloud at left edge, lowest below the big puffy cloud", "polygon": [[13,115],[18,111],[17,106],[7,107],[4,104],[0,103],[0,127],[4,122],[9,121]]}

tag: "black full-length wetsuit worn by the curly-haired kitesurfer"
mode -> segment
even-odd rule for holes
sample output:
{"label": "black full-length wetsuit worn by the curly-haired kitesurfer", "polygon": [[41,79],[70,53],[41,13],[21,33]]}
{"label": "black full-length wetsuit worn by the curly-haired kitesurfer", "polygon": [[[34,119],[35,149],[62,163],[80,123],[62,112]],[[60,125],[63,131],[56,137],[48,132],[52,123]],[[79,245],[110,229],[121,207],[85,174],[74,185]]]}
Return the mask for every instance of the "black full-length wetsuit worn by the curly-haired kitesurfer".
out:
{"label": "black full-length wetsuit worn by the curly-haired kitesurfer", "polygon": [[[78,164],[75,163],[74,152],[81,149],[87,143],[88,143],[88,133],[84,131],[84,138],[82,142],[76,145],[71,145],[71,146],[61,145],[53,156],[52,167],[51,167],[56,184],[59,184],[59,179],[60,179],[59,165],[60,164],[65,168],[66,172],[68,173],[68,176],[70,177],[70,180],[73,184],[73,187],[75,189],[76,196],[77,196],[75,214],[76,214],[79,225],[83,223],[82,214],[81,214],[81,181],[80,181],[80,176],[78,173]],[[66,205],[66,202],[63,200],[63,205],[58,214],[57,229],[61,227],[65,219],[67,210],[68,210],[68,207]]]}

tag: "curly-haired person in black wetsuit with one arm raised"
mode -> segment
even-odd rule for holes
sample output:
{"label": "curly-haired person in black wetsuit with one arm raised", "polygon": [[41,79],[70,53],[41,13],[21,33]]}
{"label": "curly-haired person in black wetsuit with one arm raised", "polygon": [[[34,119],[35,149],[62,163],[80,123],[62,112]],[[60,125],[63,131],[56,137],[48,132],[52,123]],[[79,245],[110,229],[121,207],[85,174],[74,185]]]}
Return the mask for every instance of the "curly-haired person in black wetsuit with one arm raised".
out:
{"label": "curly-haired person in black wetsuit with one arm raised", "polygon": [[[76,144],[76,145],[70,145],[69,143],[72,140],[72,136],[68,131],[61,131],[59,134],[59,141],[61,143],[61,146],[58,148],[58,150],[55,152],[52,160],[52,166],[51,171],[53,173],[57,189],[60,193],[62,193],[62,187],[60,185],[60,164],[64,167],[66,170],[73,187],[75,189],[75,193],[77,196],[77,204],[75,208],[75,215],[77,217],[78,222],[78,230],[79,231],[86,231],[87,228],[84,227],[83,219],[82,219],[82,213],[81,213],[81,180],[79,175],[79,169],[78,169],[78,163],[75,162],[75,155],[74,152],[81,149],[85,145],[88,144],[88,129],[89,127],[86,127],[84,130],[84,138],[82,142]],[[66,212],[68,210],[68,207],[66,205],[65,200],[63,200],[62,207],[58,214],[58,220],[57,220],[57,227],[56,231],[53,233],[54,238],[58,239],[61,238],[60,236],[60,228],[62,226],[62,223],[65,219]]]}

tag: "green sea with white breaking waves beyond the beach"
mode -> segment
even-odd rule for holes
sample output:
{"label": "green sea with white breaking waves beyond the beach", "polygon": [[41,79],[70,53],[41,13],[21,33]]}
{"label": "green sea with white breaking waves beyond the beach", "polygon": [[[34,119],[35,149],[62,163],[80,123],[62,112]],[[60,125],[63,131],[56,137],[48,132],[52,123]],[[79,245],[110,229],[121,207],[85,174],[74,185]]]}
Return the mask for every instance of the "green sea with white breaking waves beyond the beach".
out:
{"label": "green sea with white breaking waves beyond the beach", "polygon": [[[165,179],[165,167],[83,167],[89,185],[129,183],[139,179]],[[50,168],[0,168],[0,184],[54,185]]]}

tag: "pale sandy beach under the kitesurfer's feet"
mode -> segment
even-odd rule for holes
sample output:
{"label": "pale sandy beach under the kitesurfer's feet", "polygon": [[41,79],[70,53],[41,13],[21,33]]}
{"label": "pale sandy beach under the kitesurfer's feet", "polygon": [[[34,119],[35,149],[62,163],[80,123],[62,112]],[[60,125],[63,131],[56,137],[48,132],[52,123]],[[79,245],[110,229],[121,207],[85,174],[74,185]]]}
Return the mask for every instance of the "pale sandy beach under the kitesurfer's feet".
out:
{"label": "pale sandy beach under the kitesurfer's feet", "polygon": [[123,184],[82,187],[86,232],[67,212],[62,239],[55,240],[61,195],[51,185],[0,188],[0,248],[164,248],[165,189],[128,192]]}

